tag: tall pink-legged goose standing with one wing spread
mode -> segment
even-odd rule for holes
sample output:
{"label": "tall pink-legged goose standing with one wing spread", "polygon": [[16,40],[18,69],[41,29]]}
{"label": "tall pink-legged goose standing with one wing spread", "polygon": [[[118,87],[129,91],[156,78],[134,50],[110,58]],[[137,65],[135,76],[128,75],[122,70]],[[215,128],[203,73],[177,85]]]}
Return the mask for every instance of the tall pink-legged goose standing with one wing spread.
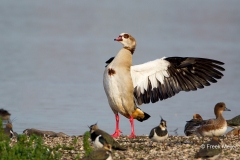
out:
{"label": "tall pink-legged goose standing with one wing spread", "polygon": [[[135,137],[134,119],[144,121],[150,116],[137,105],[155,103],[174,96],[180,91],[204,88],[222,78],[223,62],[193,57],[163,57],[140,65],[132,65],[136,48],[135,39],[122,33],[114,39],[123,45],[115,58],[108,61],[104,71],[104,90],[116,118],[113,137],[120,136],[119,115],[129,118],[131,134]],[[219,70],[219,71],[218,71]]]}

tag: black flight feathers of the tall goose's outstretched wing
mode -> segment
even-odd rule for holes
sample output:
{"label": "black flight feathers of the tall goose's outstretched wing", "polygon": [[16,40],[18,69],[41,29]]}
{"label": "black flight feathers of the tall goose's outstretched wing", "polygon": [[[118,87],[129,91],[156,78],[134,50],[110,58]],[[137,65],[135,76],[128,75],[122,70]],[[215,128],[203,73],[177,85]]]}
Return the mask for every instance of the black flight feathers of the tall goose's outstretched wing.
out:
{"label": "black flight feathers of the tall goose's outstretched wing", "polygon": [[134,96],[137,103],[155,103],[160,100],[170,98],[180,91],[194,91],[198,88],[216,83],[216,79],[221,79],[225,71],[220,65],[223,62],[196,57],[168,57],[164,60],[170,62],[167,73],[169,77],[164,78],[164,84],[158,81],[158,88],[152,88],[148,79],[148,89],[141,93],[138,87],[134,89]]}

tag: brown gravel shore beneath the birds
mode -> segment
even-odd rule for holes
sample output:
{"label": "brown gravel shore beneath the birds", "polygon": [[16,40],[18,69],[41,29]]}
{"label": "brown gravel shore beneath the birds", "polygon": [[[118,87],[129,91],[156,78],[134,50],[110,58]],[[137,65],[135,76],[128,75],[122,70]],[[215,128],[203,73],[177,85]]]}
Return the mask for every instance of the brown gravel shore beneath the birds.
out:
{"label": "brown gravel shore beneath the birds", "polygon": [[[43,139],[44,143],[50,147],[55,147],[58,144],[66,146],[59,148],[59,151],[63,153],[63,160],[71,160],[76,157],[81,159],[85,154],[83,136],[44,137]],[[202,142],[202,139],[197,136],[169,136],[165,141],[165,146],[164,143],[152,143],[147,136],[137,136],[136,139],[121,136],[116,140],[127,147],[128,150],[113,150],[112,156],[114,160],[157,160],[194,159],[194,155],[199,151],[201,145],[209,141],[210,138],[206,137]],[[237,136],[221,138],[221,145],[222,153],[218,159],[240,159],[240,141]]]}

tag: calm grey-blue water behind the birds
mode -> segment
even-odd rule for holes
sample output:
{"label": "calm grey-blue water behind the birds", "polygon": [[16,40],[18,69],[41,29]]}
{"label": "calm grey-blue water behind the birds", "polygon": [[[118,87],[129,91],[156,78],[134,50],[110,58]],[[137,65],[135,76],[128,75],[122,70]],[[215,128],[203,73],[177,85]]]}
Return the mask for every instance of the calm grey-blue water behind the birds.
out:
{"label": "calm grey-blue water behind the birds", "polygon": [[[1,1],[0,108],[16,118],[14,130],[80,135],[98,122],[112,133],[102,79],[104,62],[121,48],[113,39],[122,32],[137,40],[134,64],[193,56],[223,61],[226,69],[210,87],[141,106],[152,117],[136,121],[136,134],[149,134],[161,115],[168,130],[183,135],[186,120],[194,113],[214,118],[220,101],[232,110],[224,113],[227,119],[239,115],[240,1],[182,2]],[[129,134],[128,119],[120,118]]]}

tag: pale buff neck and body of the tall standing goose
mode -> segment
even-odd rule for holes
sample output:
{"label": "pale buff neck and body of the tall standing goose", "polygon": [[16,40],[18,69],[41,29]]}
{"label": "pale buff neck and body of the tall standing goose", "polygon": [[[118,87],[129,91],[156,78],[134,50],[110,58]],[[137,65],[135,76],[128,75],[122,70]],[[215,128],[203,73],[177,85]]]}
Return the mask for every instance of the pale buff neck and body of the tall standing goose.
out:
{"label": "pale buff neck and body of the tall standing goose", "polygon": [[[104,88],[114,113],[130,117],[134,112],[133,83],[130,73],[132,54],[122,48],[104,72]],[[124,76],[123,76],[124,75]],[[129,115],[127,115],[129,114]]]}

